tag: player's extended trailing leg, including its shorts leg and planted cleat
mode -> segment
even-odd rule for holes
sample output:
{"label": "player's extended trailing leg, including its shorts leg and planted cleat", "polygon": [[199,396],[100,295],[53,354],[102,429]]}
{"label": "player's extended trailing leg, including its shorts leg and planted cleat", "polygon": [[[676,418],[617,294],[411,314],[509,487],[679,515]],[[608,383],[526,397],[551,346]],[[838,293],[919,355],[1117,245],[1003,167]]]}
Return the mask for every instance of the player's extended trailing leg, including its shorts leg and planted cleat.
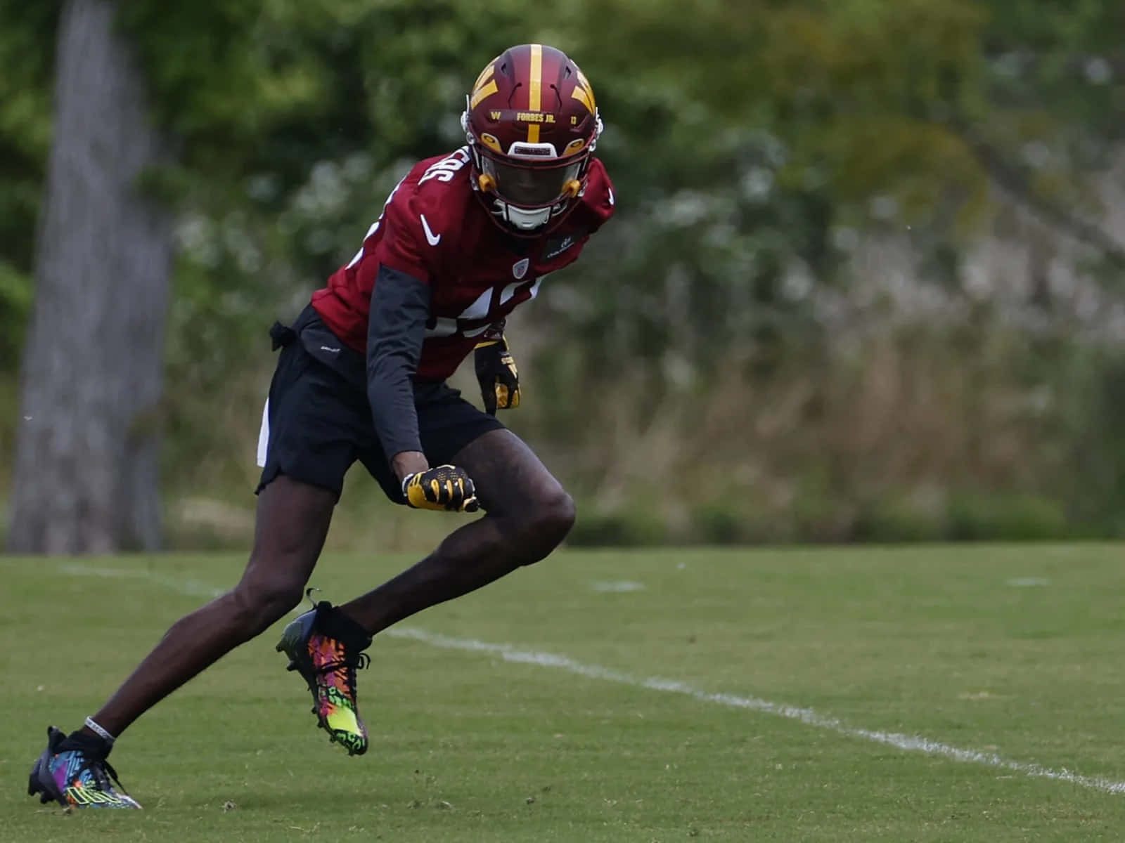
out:
{"label": "player's extended trailing leg, including its shorts leg and planted cleat", "polygon": [[[280,326],[278,326],[280,327]],[[48,729],[28,791],[63,805],[138,807],[109,781],[112,741],[138,716],[300,601],[354,460],[351,405],[339,378],[310,361],[284,332],[286,346],[263,420],[263,472],[254,546],[228,593],[177,622],[89,725],[66,736]],[[278,338],[278,337],[274,337]]]}

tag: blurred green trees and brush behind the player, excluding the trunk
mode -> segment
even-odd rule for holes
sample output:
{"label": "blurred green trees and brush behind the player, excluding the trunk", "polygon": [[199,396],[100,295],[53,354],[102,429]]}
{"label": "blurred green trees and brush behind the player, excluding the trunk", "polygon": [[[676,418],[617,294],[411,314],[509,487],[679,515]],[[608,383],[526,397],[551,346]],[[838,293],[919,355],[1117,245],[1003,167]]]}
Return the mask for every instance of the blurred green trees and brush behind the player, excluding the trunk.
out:
{"label": "blurred green trees and brush behind the player, excluding the trunk", "polygon": [[[4,453],[60,6],[0,0]],[[479,67],[526,40],[594,83],[619,196],[513,328],[529,401],[510,420],[576,491],[576,541],[1125,532],[1119,3],[117,6],[178,151],[146,188],[180,219],[181,541],[230,535],[207,501],[249,508],[264,328],[354,252],[413,160],[460,144]],[[369,523],[377,493],[350,500],[341,520]]]}

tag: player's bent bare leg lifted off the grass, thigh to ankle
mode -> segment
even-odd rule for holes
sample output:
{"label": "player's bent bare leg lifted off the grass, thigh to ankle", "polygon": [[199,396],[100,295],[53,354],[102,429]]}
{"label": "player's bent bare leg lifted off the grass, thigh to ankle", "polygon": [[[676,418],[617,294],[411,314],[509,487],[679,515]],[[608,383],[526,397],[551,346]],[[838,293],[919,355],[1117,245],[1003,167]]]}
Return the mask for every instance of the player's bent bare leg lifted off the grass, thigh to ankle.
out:
{"label": "player's bent bare leg lifted off the grass, thigh to ankle", "polygon": [[341,607],[372,634],[538,562],[574,524],[570,496],[511,430],[480,435],[451,462],[468,471],[486,514],[413,568]]}

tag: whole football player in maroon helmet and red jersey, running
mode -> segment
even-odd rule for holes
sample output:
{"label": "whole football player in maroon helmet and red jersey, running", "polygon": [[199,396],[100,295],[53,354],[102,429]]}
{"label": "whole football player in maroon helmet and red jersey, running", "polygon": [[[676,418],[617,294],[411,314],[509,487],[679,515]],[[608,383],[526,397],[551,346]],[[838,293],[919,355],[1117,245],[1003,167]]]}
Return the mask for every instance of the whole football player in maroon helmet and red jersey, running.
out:
{"label": "whole football player in maroon helmet and red jersey, running", "polygon": [[[300,602],[357,460],[396,504],[483,516],[378,588],[340,606],[316,602],[285,628],[277,650],[307,683],[317,725],[349,754],[368,746],[356,671],[372,636],[538,562],[567,535],[574,502],[495,413],[520,404],[505,317],[613,214],[593,156],[602,121],[578,66],[524,44],[484,69],[461,126],[466,145],[415,165],[351,262],[291,325],[270,332],[280,355],[242,579],[177,622],[81,729],[48,728],[32,795],[140,807],[114,786],[114,741]],[[485,411],[446,383],[470,352]]]}

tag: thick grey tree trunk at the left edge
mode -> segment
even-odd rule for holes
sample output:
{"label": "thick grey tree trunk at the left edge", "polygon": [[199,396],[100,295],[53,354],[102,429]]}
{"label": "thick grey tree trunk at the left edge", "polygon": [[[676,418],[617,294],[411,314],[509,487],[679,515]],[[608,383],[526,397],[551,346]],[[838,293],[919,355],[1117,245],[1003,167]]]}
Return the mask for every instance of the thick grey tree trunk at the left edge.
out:
{"label": "thick grey tree trunk at the left edge", "polygon": [[160,545],[158,404],[171,215],[138,176],[165,161],[114,0],[68,0],[54,143],[24,350],[8,546]]}

